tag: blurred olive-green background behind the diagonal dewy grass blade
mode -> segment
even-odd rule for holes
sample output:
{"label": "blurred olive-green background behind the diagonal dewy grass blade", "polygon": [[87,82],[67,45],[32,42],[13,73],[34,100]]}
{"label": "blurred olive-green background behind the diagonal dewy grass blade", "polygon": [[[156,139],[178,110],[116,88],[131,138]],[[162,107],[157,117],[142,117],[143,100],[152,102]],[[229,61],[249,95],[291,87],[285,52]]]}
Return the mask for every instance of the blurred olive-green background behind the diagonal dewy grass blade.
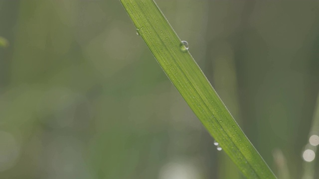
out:
{"label": "blurred olive-green background behind the diagonal dewy grass blade", "polygon": [[[268,165],[282,151],[300,179],[319,1],[157,3]],[[0,0],[0,36],[0,179],[243,178],[119,0]]]}

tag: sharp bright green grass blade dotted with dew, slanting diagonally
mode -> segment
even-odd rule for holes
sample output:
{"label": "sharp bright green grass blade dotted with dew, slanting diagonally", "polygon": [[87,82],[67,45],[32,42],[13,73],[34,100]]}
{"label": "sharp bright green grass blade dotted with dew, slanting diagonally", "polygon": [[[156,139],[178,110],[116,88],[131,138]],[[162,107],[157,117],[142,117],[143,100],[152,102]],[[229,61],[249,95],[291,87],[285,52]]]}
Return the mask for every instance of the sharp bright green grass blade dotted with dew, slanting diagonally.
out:
{"label": "sharp bright green grass blade dotted with dew, slanting diagonally", "polygon": [[276,179],[154,0],[120,0],[161,68],[211,136],[249,179]]}

